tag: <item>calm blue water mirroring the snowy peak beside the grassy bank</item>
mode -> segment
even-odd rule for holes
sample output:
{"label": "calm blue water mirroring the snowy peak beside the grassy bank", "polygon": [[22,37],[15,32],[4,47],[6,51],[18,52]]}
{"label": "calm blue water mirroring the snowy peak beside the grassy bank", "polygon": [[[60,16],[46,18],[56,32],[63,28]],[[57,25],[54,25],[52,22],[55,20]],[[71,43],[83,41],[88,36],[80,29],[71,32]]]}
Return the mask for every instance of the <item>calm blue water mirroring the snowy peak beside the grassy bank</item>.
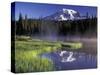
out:
{"label": "calm blue water mirroring the snowy peak beside the grassy bank", "polygon": [[48,58],[53,61],[56,70],[71,70],[96,68],[97,56],[69,51],[57,51],[42,55],[43,58]]}

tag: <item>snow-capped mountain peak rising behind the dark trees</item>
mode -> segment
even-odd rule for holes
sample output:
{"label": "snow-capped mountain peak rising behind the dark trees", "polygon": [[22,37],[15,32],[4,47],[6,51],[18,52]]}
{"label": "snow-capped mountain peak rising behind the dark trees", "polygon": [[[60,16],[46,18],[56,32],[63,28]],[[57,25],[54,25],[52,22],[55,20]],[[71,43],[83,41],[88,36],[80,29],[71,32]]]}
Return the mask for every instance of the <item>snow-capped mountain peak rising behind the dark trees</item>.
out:
{"label": "snow-capped mountain peak rising behind the dark trees", "polygon": [[80,13],[78,11],[72,9],[63,8],[62,10],[45,17],[45,20],[57,20],[57,21],[64,21],[64,20],[77,20],[81,19]]}

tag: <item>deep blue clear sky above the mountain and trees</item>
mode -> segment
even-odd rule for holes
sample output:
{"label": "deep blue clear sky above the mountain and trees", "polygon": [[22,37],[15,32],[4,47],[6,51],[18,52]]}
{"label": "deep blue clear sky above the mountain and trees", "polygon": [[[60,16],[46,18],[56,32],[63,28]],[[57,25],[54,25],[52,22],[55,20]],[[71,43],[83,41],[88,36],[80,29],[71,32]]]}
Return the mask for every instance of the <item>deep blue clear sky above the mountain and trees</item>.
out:
{"label": "deep blue clear sky above the mountain and trees", "polygon": [[63,8],[78,11],[81,16],[85,16],[87,12],[89,16],[97,15],[97,7],[92,6],[15,2],[15,19],[19,19],[20,13],[22,14],[23,18],[25,15],[27,15],[28,18],[46,17],[62,10]]}

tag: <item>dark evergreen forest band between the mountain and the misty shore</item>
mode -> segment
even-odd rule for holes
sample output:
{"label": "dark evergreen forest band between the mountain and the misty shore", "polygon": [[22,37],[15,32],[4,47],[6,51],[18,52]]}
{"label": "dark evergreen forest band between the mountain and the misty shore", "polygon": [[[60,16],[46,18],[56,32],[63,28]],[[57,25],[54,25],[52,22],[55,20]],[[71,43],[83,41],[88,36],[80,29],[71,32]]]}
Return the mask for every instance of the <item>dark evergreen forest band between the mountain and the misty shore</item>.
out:
{"label": "dark evergreen forest band between the mountain and the misty shore", "polygon": [[40,19],[28,19],[19,15],[18,21],[12,21],[16,27],[16,35],[77,35],[85,37],[96,37],[97,17],[87,17],[80,20],[54,21]]}

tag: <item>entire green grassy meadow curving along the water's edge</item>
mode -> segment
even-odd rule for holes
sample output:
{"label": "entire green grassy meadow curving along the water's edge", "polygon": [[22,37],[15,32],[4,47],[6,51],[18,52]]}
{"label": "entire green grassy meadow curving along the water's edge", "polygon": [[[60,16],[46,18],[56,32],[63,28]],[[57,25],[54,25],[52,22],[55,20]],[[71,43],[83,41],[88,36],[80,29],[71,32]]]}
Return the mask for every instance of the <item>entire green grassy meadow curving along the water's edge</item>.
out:
{"label": "entire green grassy meadow curving along the water's edge", "polygon": [[75,49],[82,47],[80,43],[50,42],[17,36],[15,41],[15,71],[19,73],[55,70],[53,61],[41,58],[40,54],[57,51],[62,47],[62,44]]}

